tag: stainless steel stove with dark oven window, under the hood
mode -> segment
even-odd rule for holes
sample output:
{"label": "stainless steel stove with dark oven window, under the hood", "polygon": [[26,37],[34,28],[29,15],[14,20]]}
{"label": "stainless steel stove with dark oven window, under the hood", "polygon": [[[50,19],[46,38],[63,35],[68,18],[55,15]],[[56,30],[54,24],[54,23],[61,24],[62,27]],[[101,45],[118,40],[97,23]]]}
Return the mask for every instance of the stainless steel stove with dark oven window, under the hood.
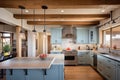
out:
{"label": "stainless steel stove with dark oven window, under the hood", "polygon": [[77,65],[77,50],[64,50],[63,54],[65,55],[65,65]]}

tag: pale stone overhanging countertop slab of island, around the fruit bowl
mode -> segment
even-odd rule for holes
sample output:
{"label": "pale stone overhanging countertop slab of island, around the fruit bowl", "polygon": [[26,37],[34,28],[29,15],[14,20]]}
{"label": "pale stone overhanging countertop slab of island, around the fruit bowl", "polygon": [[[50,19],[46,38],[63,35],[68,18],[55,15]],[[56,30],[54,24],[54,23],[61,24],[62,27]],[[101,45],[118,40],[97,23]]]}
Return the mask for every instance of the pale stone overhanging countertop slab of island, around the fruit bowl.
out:
{"label": "pale stone overhanging countertop slab of island, around the fruit bowl", "polygon": [[47,57],[46,60],[38,57],[16,57],[1,62],[0,69],[49,69],[54,59],[54,57]]}

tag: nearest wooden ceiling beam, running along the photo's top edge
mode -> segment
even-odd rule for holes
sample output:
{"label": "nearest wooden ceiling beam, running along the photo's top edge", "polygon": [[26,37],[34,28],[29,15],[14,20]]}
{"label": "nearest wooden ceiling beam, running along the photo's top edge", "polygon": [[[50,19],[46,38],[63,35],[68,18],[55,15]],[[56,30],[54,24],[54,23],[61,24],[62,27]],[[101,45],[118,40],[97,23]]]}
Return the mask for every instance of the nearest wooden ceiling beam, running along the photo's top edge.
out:
{"label": "nearest wooden ceiling beam, running along the photo's top edge", "polygon": [[47,5],[49,9],[80,8],[87,5],[120,5],[120,0],[1,0],[0,7],[18,8],[23,5],[27,9],[40,9]]}

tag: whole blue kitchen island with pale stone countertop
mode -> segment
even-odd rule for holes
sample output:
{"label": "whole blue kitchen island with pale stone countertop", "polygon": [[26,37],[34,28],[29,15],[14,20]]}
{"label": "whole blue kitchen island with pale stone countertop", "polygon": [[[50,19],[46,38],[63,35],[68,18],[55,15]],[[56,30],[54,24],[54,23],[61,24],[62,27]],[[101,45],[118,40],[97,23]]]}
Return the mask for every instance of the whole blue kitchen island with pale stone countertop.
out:
{"label": "whole blue kitchen island with pale stone countertop", "polygon": [[64,54],[40,58],[14,58],[0,63],[6,69],[6,80],[64,80]]}

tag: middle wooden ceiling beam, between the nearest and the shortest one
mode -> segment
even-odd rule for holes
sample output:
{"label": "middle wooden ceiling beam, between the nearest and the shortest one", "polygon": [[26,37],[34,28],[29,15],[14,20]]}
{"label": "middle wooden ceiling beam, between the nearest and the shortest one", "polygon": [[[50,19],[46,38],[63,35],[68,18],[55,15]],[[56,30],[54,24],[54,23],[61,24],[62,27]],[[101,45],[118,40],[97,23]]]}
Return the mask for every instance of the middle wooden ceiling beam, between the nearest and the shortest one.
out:
{"label": "middle wooden ceiling beam, between the nearest and the shortest one", "polygon": [[[33,14],[14,14],[16,19],[33,19]],[[73,19],[80,19],[80,18],[109,18],[109,14],[46,14],[46,19],[60,19],[60,18],[73,18]],[[36,14],[35,19],[43,19],[43,14]]]}

